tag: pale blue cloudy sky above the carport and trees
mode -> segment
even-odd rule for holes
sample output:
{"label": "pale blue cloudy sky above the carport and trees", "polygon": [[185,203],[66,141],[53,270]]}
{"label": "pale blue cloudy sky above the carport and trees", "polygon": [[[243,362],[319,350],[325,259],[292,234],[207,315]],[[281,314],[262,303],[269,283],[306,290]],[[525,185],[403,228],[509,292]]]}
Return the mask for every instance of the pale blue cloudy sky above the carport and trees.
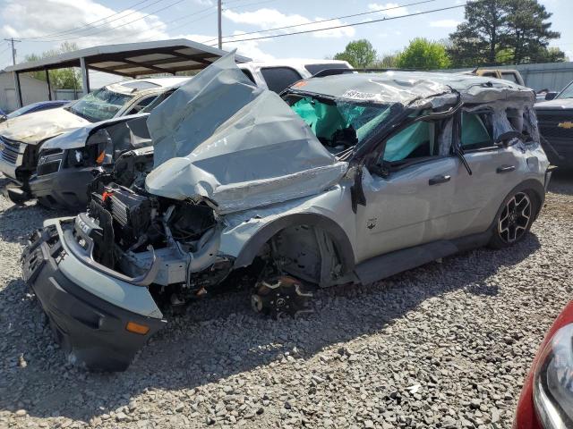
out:
{"label": "pale blue cloudy sky above the carport and trees", "polygon": [[[552,29],[559,46],[573,61],[572,0],[540,0],[553,13]],[[41,54],[64,41],[80,47],[167,38],[190,38],[217,44],[217,0],[0,0],[0,36],[21,40],[16,62]],[[223,0],[224,49],[237,48],[256,60],[326,58],[358,38],[370,40],[378,55],[401,50],[417,38],[448,38],[464,19],[465,0]],[[410,13],[454,9],[400,18]],[[364,13],[361,16],[344,17]],[[338,18],[338,19],[333,19]],[[386,21],[376,21],[386,18]],[[329,20],[326,22],[318,22]],[[374,22],[371,22],[374,21]],[[325,29],[279,38],[244,40],[356,22],[354,27]],[[305,24],[296,28],[277,29]],[[249,33],[245,35],[244,33]],[[233,40],[242,40],[233,42]],[[0,43],[0,68],[12,63],[8,42]],[[92,87],[118,80],[90,72]]]}

